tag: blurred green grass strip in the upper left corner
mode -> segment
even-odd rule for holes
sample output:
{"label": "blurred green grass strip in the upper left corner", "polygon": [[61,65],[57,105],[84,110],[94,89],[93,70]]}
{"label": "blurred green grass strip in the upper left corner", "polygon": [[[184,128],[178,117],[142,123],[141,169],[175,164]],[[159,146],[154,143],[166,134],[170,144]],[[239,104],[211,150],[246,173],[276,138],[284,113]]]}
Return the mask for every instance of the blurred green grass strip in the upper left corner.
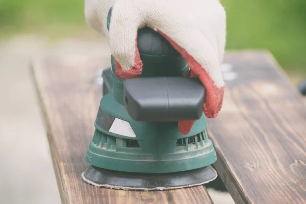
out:
{"label": "blurred green grass strip in the upper left corner", "polygon": [[0,0],[0,32],[84,24],[84,0]]}

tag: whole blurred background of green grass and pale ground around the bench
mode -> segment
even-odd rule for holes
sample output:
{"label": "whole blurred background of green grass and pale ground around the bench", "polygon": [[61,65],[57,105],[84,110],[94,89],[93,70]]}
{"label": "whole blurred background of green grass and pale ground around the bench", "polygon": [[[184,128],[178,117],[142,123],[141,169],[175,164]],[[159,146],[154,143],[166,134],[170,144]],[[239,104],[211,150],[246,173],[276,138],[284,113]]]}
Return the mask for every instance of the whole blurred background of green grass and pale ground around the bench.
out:
{"label": "whole blurred background of green grass and pale ground around the bench", "polygon": [[[306,79],[306,0],[220,1],[227,49],[270,50],[293,82]],[[0,0],[0,162],[6,164],[0,203],[60,203],[30,77],[32,57],[98,56],[109,54],[106,45],[85,23],[84,0]],[[16,141],[22,145],[12,145]],[[234,203],[229,194],[210,195]]]}

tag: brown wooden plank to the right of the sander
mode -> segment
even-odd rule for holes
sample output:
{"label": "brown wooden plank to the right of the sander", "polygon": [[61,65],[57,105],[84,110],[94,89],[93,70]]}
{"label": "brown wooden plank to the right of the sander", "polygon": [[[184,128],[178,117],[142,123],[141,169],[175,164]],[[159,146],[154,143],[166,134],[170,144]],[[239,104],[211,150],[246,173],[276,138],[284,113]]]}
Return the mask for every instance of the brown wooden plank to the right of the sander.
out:
{"label": "brown wooden plank to the right of the sander", "polygon": [[208,121],[219,176],[236,203],[306,203],[305,101],[269,53],[224,61],[233,80]]}

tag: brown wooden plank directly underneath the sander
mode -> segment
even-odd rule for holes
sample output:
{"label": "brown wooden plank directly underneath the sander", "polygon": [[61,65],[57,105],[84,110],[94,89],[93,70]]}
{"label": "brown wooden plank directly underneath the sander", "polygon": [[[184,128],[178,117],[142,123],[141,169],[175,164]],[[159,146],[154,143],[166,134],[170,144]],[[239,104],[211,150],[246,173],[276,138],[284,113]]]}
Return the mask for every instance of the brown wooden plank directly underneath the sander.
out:
{"label": "brown wooden plank directly underneath the sander", "polygon": [[95,188],[81,180],[94,132],[101,85],[95,72],[109,57],[50,57],[33,62],[57,183],[63,203],[212,203],[202,186],[171,191],[122,191]]}

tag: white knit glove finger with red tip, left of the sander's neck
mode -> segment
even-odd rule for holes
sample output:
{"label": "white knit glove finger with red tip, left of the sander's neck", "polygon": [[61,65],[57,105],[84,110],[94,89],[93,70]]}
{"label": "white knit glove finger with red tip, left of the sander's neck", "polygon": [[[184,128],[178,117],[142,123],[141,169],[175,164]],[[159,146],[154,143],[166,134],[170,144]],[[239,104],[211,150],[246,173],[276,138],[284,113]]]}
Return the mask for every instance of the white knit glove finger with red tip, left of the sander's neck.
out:
{"label": "white knit glove finger with red tip, left of the sander's neck", "polygon": [[137,31],[143,27],[140,15],[131,1],[117,1],[112,9],[109,42],[116,73],[123,79],[135,78],[142,72],[137,48]]}

